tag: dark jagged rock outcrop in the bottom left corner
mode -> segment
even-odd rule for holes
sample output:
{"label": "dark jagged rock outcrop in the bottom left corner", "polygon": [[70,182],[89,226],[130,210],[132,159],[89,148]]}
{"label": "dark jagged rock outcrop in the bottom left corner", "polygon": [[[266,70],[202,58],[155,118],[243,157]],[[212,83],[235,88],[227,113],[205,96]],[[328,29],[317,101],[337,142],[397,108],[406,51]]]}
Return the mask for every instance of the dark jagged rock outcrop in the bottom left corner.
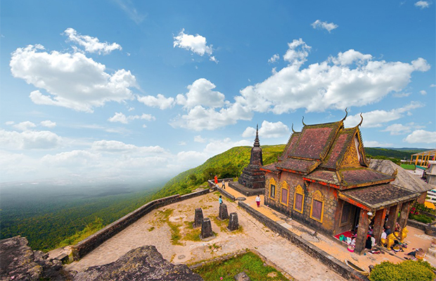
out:
{"label": "dark jagged rock outcrop in the bottom left corner", "polygon": [[0,281],[6,280],[70,280],[63,265],[48,259],[42,251],[32,251],[25,237],[0,240]]}

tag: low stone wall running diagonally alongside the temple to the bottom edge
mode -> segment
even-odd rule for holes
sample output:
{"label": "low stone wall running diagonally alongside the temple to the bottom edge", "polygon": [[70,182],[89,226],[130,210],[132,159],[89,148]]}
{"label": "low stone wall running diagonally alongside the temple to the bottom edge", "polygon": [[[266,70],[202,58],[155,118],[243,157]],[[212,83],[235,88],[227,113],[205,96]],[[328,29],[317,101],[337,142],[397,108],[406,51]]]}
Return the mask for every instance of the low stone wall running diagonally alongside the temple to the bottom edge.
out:
{"label": "low stone wall running diagonally alongside the temple to the bottom edge", "polygon": [[326,253],[322,249],[319,249],[319,247],[316,247],[313,244],[310,244],[309,242],[305,241],[301,237],[295,235],[295,233],[293,233],[292,231],[288,230],[287,228],[271,220],[271,218],[268,218],[267,216],[264,216],[263,214],[259,213],[252,207],[248,206],[248,204],[245,204],[244,202],[238,202],[238,205],[243,209],[245,209],[245,211],[247,211],[248,214],[250,214],[252,217],[256,218],[257,221],[263,223],[264,226],[267,226],[267,228],[271,229],[275,233],[278,233],[279,235],[285,237],[290,242],[293,242],[297,247],[302,249],[306,254],[309,254],[309,256],[312,256],[314,259],[321,261],[326,266],[328,266],[328,268],[335,270],[336,273],[338,273],[345,279],[368,281],[368,278],[366,276],[361,275],[357,271],[345,265],[345,263],[342,263],[342,261],[336,259],[334,256],[331,256],[330,254]]}

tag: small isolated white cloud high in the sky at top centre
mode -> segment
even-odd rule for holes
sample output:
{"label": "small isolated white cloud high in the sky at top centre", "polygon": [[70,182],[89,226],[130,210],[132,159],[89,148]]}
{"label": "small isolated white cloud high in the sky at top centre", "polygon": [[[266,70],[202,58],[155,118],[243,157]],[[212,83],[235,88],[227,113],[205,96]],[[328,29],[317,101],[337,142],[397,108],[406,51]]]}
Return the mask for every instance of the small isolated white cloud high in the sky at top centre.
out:
{"label": "small isolated white cloud high in the sky at top centre", "polygon": [[206,37],[199,34],[186,34],[185,30],[181,30],[181,32],[174,37],[173,47],[184,48],[185,50],[201,56],[207,54],[209,55],[210,60],[217,63],[217,59],[212,55],[212,45],[207,46]]}

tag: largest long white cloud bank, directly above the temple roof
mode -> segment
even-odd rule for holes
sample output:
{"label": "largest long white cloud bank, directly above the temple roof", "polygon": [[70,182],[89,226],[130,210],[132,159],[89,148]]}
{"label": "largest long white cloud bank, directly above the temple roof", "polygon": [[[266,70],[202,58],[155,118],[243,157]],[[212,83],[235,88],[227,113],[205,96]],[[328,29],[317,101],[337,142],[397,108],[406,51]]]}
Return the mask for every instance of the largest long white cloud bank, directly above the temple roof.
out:
{"label": "largest long white cloud bank, directly above the temple roof", "polygon": [[412,72],[430,69],[423,58],[411,63],[386,62],[349,50],[300,70],[309,49],[301,39],[294,40],[284,56],[290,65],[263,82],[242,89],[236,103],[249,110],[275,114],[299,108],[306,108],[307,112],[343,110],[376,103],[389,93],[401,92],[411,81]]}

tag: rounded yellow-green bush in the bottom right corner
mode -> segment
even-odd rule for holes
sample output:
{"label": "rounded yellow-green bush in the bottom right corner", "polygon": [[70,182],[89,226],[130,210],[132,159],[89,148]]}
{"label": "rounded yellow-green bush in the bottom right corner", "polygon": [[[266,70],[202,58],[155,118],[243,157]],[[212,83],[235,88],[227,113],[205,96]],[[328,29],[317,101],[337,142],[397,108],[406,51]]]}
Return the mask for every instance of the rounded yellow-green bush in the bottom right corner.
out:
{"label": "rounded yellow-green bush in the bottom right corner", "polygon": [[402,263],[391,263],[383,261],[374,266],[369,280],[371,281],[432,281],[435,280],[433,268],[427,261],[403,261]]}

